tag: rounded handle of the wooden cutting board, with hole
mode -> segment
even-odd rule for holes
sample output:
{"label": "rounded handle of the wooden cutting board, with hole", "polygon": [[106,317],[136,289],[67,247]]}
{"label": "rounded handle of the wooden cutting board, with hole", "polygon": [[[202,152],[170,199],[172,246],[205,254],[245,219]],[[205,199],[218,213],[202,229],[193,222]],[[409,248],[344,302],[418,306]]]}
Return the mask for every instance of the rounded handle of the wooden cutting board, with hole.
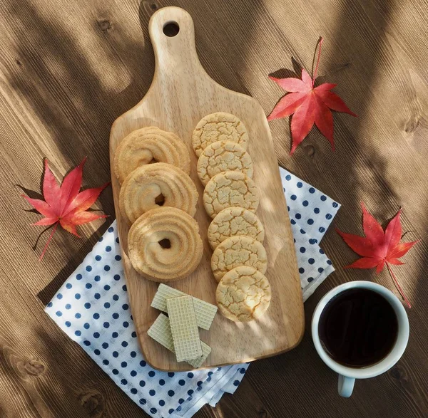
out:
{"label": "rounded handle of the wooden cutting board, with hole", "polygon": [[159,74],[175,78],[183,70],[200,70],[195,28],[187,11],[172,6],[159,9],[148,23],[148,32],[155,52],[155,78]]}

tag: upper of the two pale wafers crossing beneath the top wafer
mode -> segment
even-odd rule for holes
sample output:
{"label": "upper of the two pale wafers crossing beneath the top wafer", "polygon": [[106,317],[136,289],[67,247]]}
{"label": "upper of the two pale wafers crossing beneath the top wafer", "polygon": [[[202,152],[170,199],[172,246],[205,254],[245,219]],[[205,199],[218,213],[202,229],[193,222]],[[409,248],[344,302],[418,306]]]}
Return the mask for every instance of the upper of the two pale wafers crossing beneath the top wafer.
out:
{"label": "upper of the two pale wafers crossing beneath the top wafer", "polygon": [[[178,291],[178,289],[175,288],[170,288],[170,286],[166,286],[165,284],[161,283],[158,287],[155,297],[153,298],[151,307],[168,313],[166,300],[168,298],[177,298],[178,296],[185,295],[186,293]],[[196,322],[198,323],[198,327],[203,328],[204,330],[209,330],[211,323],[213,323],[215,314],[217,313],[217,306],[195,297],[193,297],[193,306],[195,308]]]}

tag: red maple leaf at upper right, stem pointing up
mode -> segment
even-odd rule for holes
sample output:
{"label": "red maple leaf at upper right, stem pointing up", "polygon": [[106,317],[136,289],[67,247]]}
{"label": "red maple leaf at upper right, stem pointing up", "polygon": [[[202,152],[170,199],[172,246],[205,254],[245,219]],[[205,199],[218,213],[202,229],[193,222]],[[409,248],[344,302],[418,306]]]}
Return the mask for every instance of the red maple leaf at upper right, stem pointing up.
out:
{"label": "red maple leaf at upper right, stem pointing up", "polygon": [[320,46],[317,58],[317,65],[313,78],[305,69],[302,69],[302,80],[300,78],[275,78],[269,77],[280,85],[288,93],[273,108],[267,120],[279,119],[280,117],[290,116],[291,118],[291,152],[295,152],[297,145],[305,139],[312,127],[317,125],[322,135],[329,140],[332,150],[335,150],[335,140],[333,138],[333,115],[330,111],[353,113],[345,102],[330,90],[337,84],[323,83],[315,87],[317,78],[318,64],[320,63],[322,38],[318,41]]}

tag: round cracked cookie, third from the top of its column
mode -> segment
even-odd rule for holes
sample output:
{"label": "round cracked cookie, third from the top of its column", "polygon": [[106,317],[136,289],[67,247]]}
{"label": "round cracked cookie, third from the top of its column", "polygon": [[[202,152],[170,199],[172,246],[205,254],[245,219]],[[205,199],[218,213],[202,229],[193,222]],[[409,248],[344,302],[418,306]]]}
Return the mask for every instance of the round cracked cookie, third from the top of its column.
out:
{"label": "round cracked cookie, third from the top of its column", "polygon": [[255,212],[259,204],[257,186],[241,172],[215,174],[205,186],[203,204],[212,218],[227,207],[243,207]]}

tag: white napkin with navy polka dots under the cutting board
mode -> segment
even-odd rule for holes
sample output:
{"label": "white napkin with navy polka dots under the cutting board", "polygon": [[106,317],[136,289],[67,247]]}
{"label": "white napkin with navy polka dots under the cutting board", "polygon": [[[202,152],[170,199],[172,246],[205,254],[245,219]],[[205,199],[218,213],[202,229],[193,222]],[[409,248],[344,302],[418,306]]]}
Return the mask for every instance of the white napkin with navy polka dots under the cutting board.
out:
{"label": "white napkin with navy polka dots under the cutting board", "polygon": [[[281,169],[304,298],[334,268],[317,245],[339,205]],[[46,313],[151,417],[192,417],[233,394],[248,364],[161,372],[138,348],[123,278],[116,221],[46,306]]]}

